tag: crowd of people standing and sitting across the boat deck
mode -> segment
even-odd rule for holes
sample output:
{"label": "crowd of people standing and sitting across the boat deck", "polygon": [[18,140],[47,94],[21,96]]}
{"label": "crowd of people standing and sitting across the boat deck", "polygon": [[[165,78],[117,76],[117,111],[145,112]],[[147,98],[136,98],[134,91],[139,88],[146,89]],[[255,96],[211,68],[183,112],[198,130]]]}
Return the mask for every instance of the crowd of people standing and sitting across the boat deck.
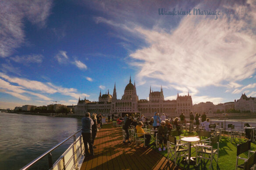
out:
{"label": "crowd of people standing and sitting across the boat deck", "polygon": [[[199,127],[200,122],[199,122],[199,117],[201,115],[199,113],[196,113],[195,115],[193,114],[193,112],[190,112],[189,114],[189,123],[191,124],[195,124],[197,127]],[[114,119],[114,114],[112,115],[108,115],[107,116],[107,120],[108,122],[110,122],[110,118],[112,118],[112,120]],[[135,119],[136,118],[136,119]],[[210,124],[210,119],[207,118],[206,119],[206,114],[205,112],[203,113],[203,115],[201,116],[201,125],[205,128],[206,131],[209,131],[209,124]],[[145,125],[152,125],[153,129],[154,129],[154,136],[156,136],[157,133],[157,138],[159,139],[159,151],[164,151],[166,150],[166,144],[167,144],[167,133],[169,131],[171,131],[172,125],[175,125],[176,129],[180,129],[180,126],[182,124],[188,123],[186,121],[186,117],[184,115],[184,113],[182,112],[181,115],[176,118],[171,118],[170,120],[167,119],[167,117],[165,116],[164,113],[162,113],[161,116],[159,116],[158,112],[155,112],[152,118],[146,118],[146,116],[142,115],[132,115],[129,116],[128,114],[126,114],[124,116],[124,118],[122,117],[118,117],[117,118],[117,124],[121,124],[124,123],[123,129],[126,133],[125,139],[123,140],[124,144],[131,144],[131,142],[129,141],[129,127],[132,125],[135,127],[136,132],[139,133],[138,137],[143,137],[145,136],[145,145],[149,146],[149,142],[151,139],[151,135],[147,134],[146,132],[144,132],[144,130],[142,129],[142,126]],[[89,155],[94,155],[93,153],[93,148],[96,148],[93,143],[94,143],[94,139],[96,137],[96,133],[99,129],[102,128],[102,115],[101,114],[96,114],[93,113],[92,114],[92,119],[90,118],[90,113],[86,112],[85,113],[85,117],[82,118],[82,136],[83,136],[83,140],[84,140],[84,145],[85,145],[85,156],[89,156]],[[157,129],[157,130],[155,130]],[[127,142],[126,142],[127,140]],[[87,143],[89,144],[89,150],[90,150],[90,154],[89,154],[89,150],[88,150],[88,146]]]}

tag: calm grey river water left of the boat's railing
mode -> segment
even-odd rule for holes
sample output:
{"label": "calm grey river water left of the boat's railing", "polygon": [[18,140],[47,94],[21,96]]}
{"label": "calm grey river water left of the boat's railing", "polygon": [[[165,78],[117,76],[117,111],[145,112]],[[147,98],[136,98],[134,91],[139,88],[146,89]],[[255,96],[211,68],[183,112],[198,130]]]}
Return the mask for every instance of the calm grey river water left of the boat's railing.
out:
{"label": "calm grey river water left of the boat's railing", "polygon": [[[0,170],[18,170],[82,128],[81,119],[0,112]],[[53,162],[73,138],[52,152]],[[46,170],[48,158],[30,170]],[[49,169],[49,168],[48,168]]]}

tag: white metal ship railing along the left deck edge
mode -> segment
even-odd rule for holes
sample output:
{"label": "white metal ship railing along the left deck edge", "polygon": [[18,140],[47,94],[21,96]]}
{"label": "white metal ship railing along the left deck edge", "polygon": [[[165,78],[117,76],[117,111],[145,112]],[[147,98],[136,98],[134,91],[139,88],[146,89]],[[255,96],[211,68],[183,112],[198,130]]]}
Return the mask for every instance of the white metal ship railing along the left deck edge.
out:
{"label": "white metal ship railing along the left deck edge", "polygon": [[[69,136],[67,139],[64,139],[56,146],[53,146],[50,150],[46,151],[45,153],[37,157],[35,160],[32,160],[30,163],[28,163],[25,167],[22,167],[20,170],[27,170],[28,168],[32,167],[32,165],[37,163],[39,160],[43,159],[43,157],[45,156],[48,156],[48,165],[50,170],[78,170],[79,166],[81,166],[80,161],[84,157],[83,153],[85,150],[82,135],[80,135],[78,138],[76,137],[76,135],[81,131],[82,129],[78,130],[77,132]],[[58,148],[59,146],[61,146],[62,144],[64,144],[66,141],[68,141],[68,139],[71,139],[72,137],[74,139],[73,143],[53,164],[51,152]]]}

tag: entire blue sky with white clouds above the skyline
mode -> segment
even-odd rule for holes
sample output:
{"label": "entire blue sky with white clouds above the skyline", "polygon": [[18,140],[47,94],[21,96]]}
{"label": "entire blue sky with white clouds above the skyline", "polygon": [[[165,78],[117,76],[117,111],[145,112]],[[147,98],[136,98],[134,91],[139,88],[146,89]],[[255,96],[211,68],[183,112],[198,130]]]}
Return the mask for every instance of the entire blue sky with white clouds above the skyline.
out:
{"label": "entire blue sky with white clouds above the skyline", "polygon": [[139,99],[161,85],[193,104],[256,97],[255,0],[0,0],[0,11],[0,109],[98,101],[114,84],[121,99],[130,75]]}

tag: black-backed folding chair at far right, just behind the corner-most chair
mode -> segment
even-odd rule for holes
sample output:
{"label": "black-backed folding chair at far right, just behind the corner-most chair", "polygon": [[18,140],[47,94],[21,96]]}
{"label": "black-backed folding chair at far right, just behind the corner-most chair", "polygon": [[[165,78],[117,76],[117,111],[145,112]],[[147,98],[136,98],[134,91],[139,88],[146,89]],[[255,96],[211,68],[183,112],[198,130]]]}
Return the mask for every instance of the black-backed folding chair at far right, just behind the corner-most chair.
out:
{"label": "black-backed folding chair at far right, just behind the corner-most chair", "polygon": [[[243,164],[240,164],[238,165],[238,160],[248,160],[249,156],[250,156],[250,153],[255,153],[254,151],[251,150],[251,140],[245,142],[245,143],[242,143],[240,145],[237,145],[237,151],[236,151],[236,165],[235,165],[235,169],[237,168],[241,168],[241,169],[244,169],[244,163]],[[242,154],[242,153],[245,153],[248,151],[248,158],[244,158],[244,157],[240,157],[239,155]]]}

